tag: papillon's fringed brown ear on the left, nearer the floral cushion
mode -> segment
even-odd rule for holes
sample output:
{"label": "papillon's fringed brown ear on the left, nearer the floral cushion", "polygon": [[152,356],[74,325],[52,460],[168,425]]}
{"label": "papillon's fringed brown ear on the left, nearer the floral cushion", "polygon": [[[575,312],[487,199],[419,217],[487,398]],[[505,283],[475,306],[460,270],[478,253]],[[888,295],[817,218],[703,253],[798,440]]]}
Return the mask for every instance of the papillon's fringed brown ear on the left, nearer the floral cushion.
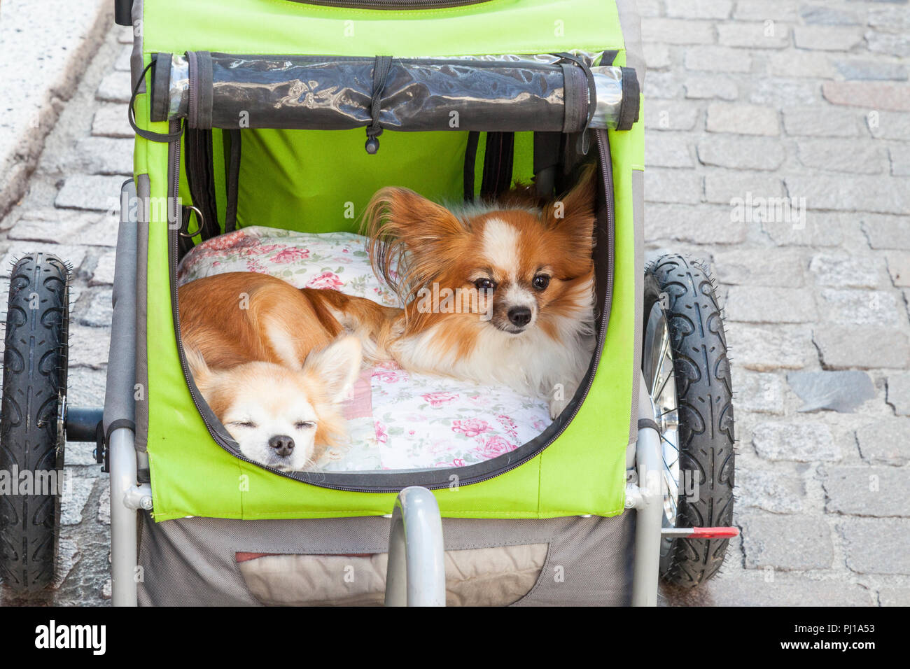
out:
{"label": "papillon's fringed brown ear on the left, nearer the floral cushion", "polygon": [[377,274],[405,302],[430,284],[448,241],[464,224],[449,209],[408,188],[382,188],[364,212],[362,233]]}

